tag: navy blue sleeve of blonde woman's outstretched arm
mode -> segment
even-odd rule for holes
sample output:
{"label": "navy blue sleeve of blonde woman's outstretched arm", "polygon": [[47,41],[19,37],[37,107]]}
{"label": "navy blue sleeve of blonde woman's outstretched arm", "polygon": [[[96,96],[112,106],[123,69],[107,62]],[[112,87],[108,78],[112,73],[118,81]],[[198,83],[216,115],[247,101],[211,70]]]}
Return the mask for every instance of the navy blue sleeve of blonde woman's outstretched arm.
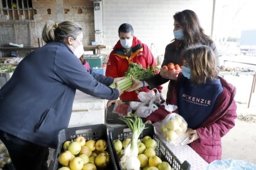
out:
{"label": "navy blue sleeve of blonde woman's outstretched arm", "polygon": [[113,78],[92,75],[72,52],[61,49],[56,52],[54,72],[56,79],[59,78],[70,87],[79,89],[86,94],[108,100],[117,99],[119,96],[117,89],[108,87],[113,83]]}

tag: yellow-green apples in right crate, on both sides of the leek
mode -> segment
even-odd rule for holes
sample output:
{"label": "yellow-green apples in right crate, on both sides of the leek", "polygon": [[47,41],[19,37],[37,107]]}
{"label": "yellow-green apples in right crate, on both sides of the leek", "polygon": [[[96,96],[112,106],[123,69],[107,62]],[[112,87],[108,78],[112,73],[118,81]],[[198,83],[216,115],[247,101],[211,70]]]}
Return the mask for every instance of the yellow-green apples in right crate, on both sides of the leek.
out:
{"label": "yellow-green apples in right crate, on both sides of the leek", "polygon": [[[130,144],[131,139],[127,138],[123,141],[116,139],[113,140],[114,148],[116,150],[117,156],[120,159],[124,155],[127,146]],[[162,161],[160,157],[156,155],[155,148],[157,143],[150,136],[144,136],[142,140],[137,143],[139,150],[140,169],[142,170],[170,170],[172,169],[170,164],[166,161]]]}

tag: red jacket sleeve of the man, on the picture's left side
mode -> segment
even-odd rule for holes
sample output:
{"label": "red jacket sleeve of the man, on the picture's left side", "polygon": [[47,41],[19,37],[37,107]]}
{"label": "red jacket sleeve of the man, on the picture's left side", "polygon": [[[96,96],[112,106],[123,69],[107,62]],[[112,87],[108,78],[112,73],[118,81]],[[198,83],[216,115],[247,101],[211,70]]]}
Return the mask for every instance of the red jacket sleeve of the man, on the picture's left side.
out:
{"label": "red jacket sleeve of the man, on the picture's left side", "polygon": [[116,60],[116,57],[113,55],[113,51],[109,54],[105,75],[112,78],[118,77],[117,60]]}

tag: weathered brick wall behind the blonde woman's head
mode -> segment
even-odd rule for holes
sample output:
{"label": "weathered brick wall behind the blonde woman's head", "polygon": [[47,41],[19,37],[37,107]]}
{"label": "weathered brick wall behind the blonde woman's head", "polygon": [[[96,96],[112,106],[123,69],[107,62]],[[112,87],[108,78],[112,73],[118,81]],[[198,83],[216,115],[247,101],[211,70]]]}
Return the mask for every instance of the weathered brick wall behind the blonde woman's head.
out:
{"label": "weathered brick wall behind the blonde woman's head", "polygon": [[[38,47],[38,38],[41,46],[41,32],[45,22],[48,20],[56,22],[71,20],[77,22],[83,29],[83,44],[90,45],[95,40],[93,1],[32,0],[32,4],[35,12],[33,20],[23,20],[22,17],[20,17],[20,20],[9,20],[3,12],[0,12],[0,46],[11,41],[24,44],[24,46]],[[26,25],[27,29],[23,31]],[[3,30],[2,28],[9,29]],[[14,35],[17,37],[15,38]]]}

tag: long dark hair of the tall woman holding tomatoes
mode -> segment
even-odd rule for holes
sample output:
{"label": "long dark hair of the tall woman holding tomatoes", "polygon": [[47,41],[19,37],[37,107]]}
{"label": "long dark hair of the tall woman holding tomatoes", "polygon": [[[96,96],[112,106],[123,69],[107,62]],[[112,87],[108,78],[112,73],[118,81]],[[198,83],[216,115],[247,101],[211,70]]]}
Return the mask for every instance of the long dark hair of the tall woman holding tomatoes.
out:
{"label": "long dark hair of the tall woman holding tomatoes", "polygon": [[198,20],[197,14],[192,10],[182,10],[173,15],[174,20],[183,26],[185,46],[195,44],[209,45],[213,42],[207,34],[204,33]]}

